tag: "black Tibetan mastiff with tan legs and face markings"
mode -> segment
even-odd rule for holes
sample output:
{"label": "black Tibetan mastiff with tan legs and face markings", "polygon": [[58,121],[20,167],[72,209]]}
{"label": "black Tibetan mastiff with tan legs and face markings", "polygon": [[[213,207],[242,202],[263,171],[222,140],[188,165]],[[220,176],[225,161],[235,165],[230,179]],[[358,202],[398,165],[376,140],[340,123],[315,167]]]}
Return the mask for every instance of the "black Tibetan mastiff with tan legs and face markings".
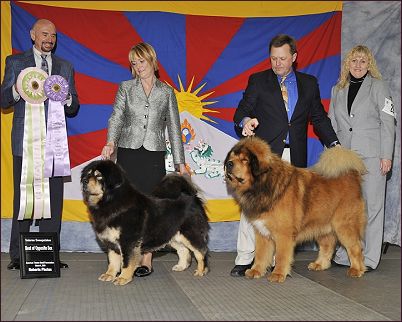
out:
{"label": "black Tibetan mastiff with tan legs and face markings", "polygon": [[142,254],[167,244],[179,257],[172,270],[187,269],[191,251],[198,263],[194,276],[208,272],[208,217],[198,190],[185,177],[167,175],[147,196],[119,165],[97,160],[82,170],[81,185],[92,226],[108,252],[108,269],[99,280],[129,283]]}

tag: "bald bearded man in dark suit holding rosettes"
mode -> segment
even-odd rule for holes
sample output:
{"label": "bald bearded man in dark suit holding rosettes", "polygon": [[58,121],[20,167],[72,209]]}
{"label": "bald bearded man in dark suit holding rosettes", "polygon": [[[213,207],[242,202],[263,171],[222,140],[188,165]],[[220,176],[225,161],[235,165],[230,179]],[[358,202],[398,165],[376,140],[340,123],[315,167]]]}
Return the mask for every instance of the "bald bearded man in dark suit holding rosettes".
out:
{"label": "bald bearded man in dark suit holding rosettes", "polygon": [[[1,107],[6,109],[14,106],[13,127],[11,131],[11,145],[13,153],[13,178],[14,178],[14,203],[13,220],[10,238],[10,258],[8,269],[20,268],[19,264],[19,233],[28,232],[32,224],[31,220],[18,221],[20,208],[20,181],[22,169],[22,151],[24,137],[25,101],[20,97],[16,81],[20,72],[27,67],[41,68],[43,60],[46,60],[46,68],[49,75],[61,75],[69,83],[69,95],[62,102],[67,115],[75,115],[79,108],[78,96],[74,83],[73,66],[66,60],[52,54],[56,45],[56,27],[46,19],[39,19],[33,25],[30,36],[33,48],[6,58],[4,80],[1,84]],[[41,57],[43,56],[43,58]],[[45,102],[47,113],[47,102]],[[41,232],[57,232],[60,239],[61,214],[63,209],[63,177],[49,179],[51,218],[39,220]],[[60,245],[60,243],[59,243]],[[62,268],[68,265],[60,263]]]}

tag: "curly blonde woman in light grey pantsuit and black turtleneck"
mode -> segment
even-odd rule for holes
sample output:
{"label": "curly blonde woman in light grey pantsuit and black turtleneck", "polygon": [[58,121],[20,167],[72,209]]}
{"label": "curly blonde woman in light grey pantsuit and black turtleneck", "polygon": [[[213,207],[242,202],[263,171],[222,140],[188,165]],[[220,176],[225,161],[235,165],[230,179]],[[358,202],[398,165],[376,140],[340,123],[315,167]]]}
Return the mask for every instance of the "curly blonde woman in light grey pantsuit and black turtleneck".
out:
{"label": "curly blonde woman in light grey pantsuit and black turtleneck", "polygon": [[[369,48],[352,48],[343,61],[339,81],[332,89],[329,117],[341,144],[360,154],[368,173],[362,182],[366,200],[367,228],[364,262],[368,271],[381,257],[386,175],[392,167],[395,121],[392,98],[381,80]],[[343,247],[334,261],[349,265]]]}

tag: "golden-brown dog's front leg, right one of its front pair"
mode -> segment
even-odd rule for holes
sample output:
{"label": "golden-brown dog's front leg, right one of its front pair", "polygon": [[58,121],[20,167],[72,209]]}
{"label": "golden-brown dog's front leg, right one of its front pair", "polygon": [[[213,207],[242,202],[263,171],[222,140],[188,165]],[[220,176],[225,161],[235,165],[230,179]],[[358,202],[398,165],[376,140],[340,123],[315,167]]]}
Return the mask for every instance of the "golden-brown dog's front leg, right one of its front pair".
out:
{"label": "golden-brown dog's front leg, right one of its front pair", "polygon": [[268,277],[268,280],[270,282],[282,283],[286,280],[286,276],[290,274],[293,263],[295,242],[291,236],[280,235],[276,236],[275,244],[276,264],[271,275]]}

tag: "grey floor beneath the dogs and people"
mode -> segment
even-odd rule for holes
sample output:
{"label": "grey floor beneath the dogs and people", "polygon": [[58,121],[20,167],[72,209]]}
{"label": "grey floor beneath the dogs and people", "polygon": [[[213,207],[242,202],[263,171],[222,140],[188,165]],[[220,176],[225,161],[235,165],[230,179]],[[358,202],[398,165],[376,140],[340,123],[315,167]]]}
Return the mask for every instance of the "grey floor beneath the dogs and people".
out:
{"label": "grey floor beneath the dogs and people", "polygon": [[235,253],[211,253],[210,273],[173,272],[177,256],[154,256],[154,273],[126,286],[98,281],[101,253],[61,253],[60,278],[21,279],[1,255],[2,321],[400,321],[400,247],[390,246],[377,270],[351,279],[346,268],[310,272],[315,251],[296,253],[285,283],[229,275]]}

